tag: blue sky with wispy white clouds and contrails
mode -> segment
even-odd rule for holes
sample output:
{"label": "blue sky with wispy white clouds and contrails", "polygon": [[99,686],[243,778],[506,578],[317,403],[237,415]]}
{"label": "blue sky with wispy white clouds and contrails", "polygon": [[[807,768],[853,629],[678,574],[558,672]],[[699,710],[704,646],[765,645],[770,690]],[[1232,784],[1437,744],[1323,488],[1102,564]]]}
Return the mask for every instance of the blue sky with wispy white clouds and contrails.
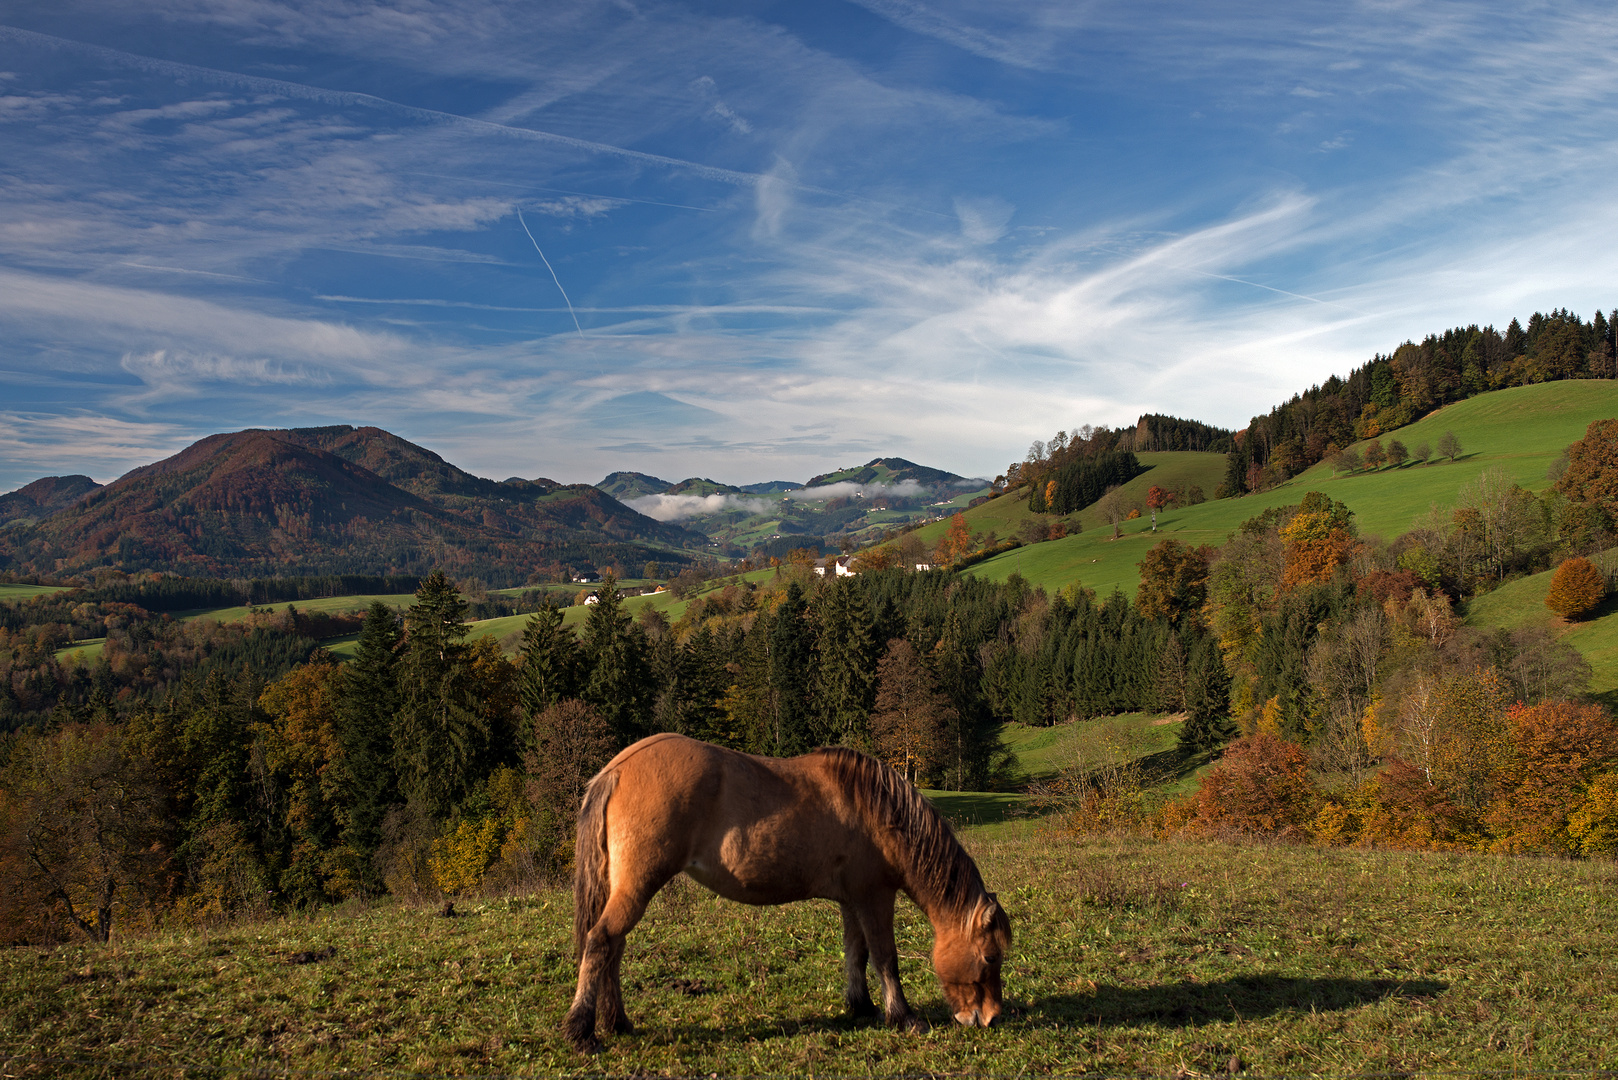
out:
{"label": "blue sky with wispy white clouds and contrails", "polygon": [[1615,176],[1610,3],[13,0],[0,491],[330,423],[992,476],[1610,309]]}

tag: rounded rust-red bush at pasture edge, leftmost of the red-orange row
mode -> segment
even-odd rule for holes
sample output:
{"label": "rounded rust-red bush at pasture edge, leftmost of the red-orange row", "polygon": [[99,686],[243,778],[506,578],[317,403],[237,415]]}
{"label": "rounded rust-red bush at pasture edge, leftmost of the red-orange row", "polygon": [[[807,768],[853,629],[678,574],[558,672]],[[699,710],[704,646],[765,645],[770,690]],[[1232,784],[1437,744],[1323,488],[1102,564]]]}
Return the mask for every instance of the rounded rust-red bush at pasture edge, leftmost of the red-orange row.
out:
{"label": "rounded rust-red bush at pasture edge, leftmost of the red-orange row", "polygon": [[1270,732],[1238,738],[1202,777],[1191,829],[1296,836],[1314,818],[1309,755]]}

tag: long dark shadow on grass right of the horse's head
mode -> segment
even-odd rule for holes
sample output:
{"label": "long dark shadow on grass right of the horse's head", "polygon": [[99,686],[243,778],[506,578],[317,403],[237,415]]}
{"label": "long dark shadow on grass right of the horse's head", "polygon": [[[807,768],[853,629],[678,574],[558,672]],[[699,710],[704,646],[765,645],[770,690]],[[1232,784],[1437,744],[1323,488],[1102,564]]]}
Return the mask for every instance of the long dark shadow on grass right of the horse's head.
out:
{"label": "long dark shadow on grass right of the horse's head", "polygon": [[1294,978],[1243,975],[1218,983],[1097,986],[1094,994],[1053,994],[1024,1017],[1099,1027],[1184,1028],[1218,1020],[1256,1020],[1278,1012],[1330,1012],[1390,997],[1434,997],[1448,989],[1434,980]]}

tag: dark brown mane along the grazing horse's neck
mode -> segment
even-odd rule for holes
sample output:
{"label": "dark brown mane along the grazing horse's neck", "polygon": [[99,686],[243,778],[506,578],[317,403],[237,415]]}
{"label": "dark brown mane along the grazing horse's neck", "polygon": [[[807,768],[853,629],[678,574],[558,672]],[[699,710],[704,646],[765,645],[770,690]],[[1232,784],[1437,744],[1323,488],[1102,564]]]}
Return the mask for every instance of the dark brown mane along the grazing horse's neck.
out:
{"label": "dark brown mane along the grazing horse's neck", "polygon": [[909,780],[846,746],[820,746],[812,756],[825,763],[874,832],[900,837],[900,848],[908,857],[904,879],[917,902],[961,910],[984,894],[977,863],[955,839],[950,823]]}

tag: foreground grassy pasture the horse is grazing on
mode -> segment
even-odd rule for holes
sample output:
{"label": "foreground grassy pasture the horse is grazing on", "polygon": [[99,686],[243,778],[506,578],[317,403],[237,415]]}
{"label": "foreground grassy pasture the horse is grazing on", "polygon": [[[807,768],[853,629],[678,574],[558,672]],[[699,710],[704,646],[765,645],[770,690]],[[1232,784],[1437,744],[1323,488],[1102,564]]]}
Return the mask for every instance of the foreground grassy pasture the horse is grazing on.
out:
{"label": "foreground grassy pasture the horse is grazing on", "polygon": [[992,1030],[948,1022],[904,900],[921,1036],[843,1015],[832,904],[751,908],[680,881],[629,936],[637,1033],[595,1057],[558,1035],[563,889],[463,899],[460,918],[349,905],[10,949],[0,1056],[18,1077],[1521,1075],[1618,1057],[1612,865],[1074,842],[1016,821],[963,839],[1016,929]]}

